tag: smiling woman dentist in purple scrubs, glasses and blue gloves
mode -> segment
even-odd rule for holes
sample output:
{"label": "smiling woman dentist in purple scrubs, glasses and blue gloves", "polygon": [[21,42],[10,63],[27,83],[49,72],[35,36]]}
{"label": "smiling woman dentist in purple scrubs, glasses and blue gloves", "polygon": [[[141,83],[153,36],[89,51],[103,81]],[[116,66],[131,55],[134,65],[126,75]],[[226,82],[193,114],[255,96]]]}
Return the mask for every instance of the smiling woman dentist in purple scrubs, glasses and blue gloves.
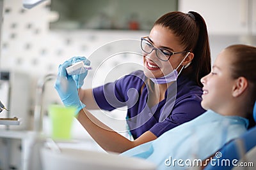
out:
{"label": "smiling woman dentist in purple scrubs, glasses and blue gloves", "polygon": [[[66,68],[85,57],[60,65],[55,88],[65,106],[77,107],[77,120],[106,151],[124,152],[147,143],[204,113],[200,79],[211,71],[211,53],[204,18],[190,11],[160,17],[150,34],[141,38],[143,71],[94,89],[81,89],[86,73],[67,74]],[[77,90],[78,89],[78,90]],[[136,93],[134,93],[136,89]],[[88,110],[115,110],[127,106],[130,141],[93,117]],[[182,135],[182,134],[180,134]],[[111,142],[109,142],[111,141]]]}

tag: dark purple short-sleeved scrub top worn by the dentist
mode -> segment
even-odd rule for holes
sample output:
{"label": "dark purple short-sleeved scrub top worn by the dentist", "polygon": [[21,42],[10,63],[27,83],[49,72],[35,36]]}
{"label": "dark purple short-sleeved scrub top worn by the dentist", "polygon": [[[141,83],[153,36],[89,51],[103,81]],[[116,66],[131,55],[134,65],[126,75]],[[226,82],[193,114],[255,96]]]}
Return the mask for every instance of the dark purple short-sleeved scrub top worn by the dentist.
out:
{"label": "dark purple short-sleeved scrub top worn by the dentist", "polygon": [[145,81],[148,78],[143,71],[134,71],[93,89],[95,101],[102,110],[127,106],[127,124],[134,139],[147,131],[159,137],[205,112],[200,104],[202,88],[188,77],[180,75],[177,83],[172,83],[166,90],[165,99],[152,108],[147,105],[148,87],[145,85],[141,90]]}

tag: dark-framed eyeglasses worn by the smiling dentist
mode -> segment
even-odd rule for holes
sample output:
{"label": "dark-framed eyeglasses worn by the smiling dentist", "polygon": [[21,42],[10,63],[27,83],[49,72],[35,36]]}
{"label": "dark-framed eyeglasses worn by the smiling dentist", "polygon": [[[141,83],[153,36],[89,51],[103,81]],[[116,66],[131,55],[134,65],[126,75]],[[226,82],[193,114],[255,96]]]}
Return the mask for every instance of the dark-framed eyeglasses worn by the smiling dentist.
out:
{"label": "dark-framed eyeglasses worn by the smiling dentist", "polygon": [[175,53],[188,53],[189,51],[184,51],[184,52],[171,52],[170,50],[166,50],[163,48],[156,48],[156,46],[152,45],[146,38],[148,36],[141,38],[141,50],[145,53],[152,53],[153,50],[156,50],[156,56],[158,59],[167,61],[170,59],[172,55]]}

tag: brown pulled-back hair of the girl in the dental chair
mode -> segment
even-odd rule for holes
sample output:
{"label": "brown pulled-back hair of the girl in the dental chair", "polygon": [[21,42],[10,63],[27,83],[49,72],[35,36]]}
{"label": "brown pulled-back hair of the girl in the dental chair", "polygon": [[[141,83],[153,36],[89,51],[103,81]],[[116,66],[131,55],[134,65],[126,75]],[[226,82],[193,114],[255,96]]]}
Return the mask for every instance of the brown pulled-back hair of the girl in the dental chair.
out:
{"label": "brown pulled-back hair of the girl in the dental chair", "polygon": [[249,45],[231,45],[225,48],[232,53],[232,64],[230,66],[232,77],[239,78],[243,76],[248,80],[250,96],[248,99],[248,119],[250,127],[255,125],[252,117],[253,106],[256,100],[256,47]]}

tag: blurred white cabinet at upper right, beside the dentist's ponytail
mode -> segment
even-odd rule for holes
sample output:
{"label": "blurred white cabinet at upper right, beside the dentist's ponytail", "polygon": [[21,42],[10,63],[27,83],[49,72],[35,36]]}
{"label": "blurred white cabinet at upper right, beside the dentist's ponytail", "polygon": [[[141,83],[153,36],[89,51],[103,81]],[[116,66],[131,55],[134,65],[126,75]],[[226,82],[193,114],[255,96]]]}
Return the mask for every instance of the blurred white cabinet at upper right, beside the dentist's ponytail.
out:
{"label": "blurred white cabinet at upper right, beside the dentist's ponytail", "polygon": [[209,34],[256,35],[256,0],[179,0],[178,9],[200,13]]}

